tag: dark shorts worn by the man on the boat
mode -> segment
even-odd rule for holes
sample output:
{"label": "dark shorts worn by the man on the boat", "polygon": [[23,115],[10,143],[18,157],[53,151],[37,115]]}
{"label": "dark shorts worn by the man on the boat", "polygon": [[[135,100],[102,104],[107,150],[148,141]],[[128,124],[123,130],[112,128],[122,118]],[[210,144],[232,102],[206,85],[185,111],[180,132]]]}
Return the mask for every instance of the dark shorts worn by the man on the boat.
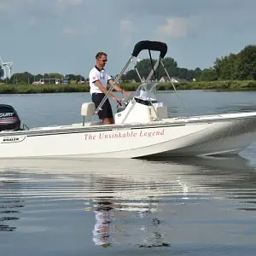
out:
{"label": "dark shorts worn by the man on the boat", "polygon": [[[93,93],[91,96],[92,102],[95,103],[95,107],[98,108],[100,103],[102,102],[105,94],[104,93]],[[113,112],[110,105],[109,100],[107,99],[106,102],[102,105],[102,110],[99,110],[98,112],[99,119],[106,119],[106,118],[112,118],[113,119]]]}

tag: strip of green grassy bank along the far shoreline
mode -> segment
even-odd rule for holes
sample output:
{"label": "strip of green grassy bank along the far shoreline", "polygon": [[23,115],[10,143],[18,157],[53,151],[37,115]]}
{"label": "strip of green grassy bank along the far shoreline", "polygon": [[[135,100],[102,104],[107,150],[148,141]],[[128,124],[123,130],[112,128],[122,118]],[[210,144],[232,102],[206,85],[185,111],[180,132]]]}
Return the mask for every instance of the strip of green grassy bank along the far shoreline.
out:
{"label": "strip of green grassy bank along the far shoreline", "polygon": [[[125,90],[136,90],[139,84],[122,84]],[[209,81],[175,83],[177,90],[256,90],[256,81]],[[160,83],[158,90],[173,90],[171,83]],[[34,94],[61,92],[88,92],[89,84],[2,84],[0,94]]]}

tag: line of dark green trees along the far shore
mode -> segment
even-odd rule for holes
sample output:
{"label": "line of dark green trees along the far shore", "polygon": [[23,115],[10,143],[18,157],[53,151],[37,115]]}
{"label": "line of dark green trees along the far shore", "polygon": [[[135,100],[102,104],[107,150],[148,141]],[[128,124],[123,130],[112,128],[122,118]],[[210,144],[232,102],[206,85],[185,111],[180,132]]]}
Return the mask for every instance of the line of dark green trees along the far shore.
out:
{"label": "line of dark green trees along the far shore", "polygon": [[[153,64],[155,63],[153,60]],[[188,69],[185,67],[178,67],[177,61],[172,57],[166,57],[163,60],[167,72],[172,78],[185,79],[187,81],[215,81],[215,80],[255,80],[256,79],[256,45],[249,44],[241,49],[237,54],[230,53],[216,58],[212,67],[201,69]],[[147,78],[148,73],[152,69],[150,59],[143,59],[137,62],[137,70],[141,77]],[[163,67],[159,67],[155,71],[157,79],[165,77],[166,73]],[[113,76],[114,77],[114,76]],[[3,68],[0,67],[0,79],[3,78]],[[63,76],[60,73],[44,73],[33,75],[32,73],[14,73],[10,79],[6,79],[8,84],[32,84],[39,79],[63,79],[69,78],[75,81],[87,80],[82,75],[67,74]],[[137,71],[131,69],[125,73],[122,80],[139,82]],[[4,82],[6,82],[4,81]]]}

